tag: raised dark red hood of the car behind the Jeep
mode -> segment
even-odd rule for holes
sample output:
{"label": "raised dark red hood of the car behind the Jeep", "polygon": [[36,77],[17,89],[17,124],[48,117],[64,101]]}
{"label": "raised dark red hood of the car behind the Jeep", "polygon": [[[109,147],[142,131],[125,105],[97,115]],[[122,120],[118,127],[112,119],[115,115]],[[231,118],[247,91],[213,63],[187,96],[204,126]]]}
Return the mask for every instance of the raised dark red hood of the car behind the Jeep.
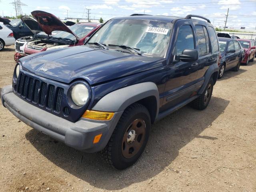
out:
{"label": "raised dark red hood of the car behind the Jeep", "polygon": [[76,34],[53,14],[44,11],[33,11],[31,14],[38,21],[40,27],[46,34],[51,35],[53,31],[65,31],[73,34],[78,39]]}

